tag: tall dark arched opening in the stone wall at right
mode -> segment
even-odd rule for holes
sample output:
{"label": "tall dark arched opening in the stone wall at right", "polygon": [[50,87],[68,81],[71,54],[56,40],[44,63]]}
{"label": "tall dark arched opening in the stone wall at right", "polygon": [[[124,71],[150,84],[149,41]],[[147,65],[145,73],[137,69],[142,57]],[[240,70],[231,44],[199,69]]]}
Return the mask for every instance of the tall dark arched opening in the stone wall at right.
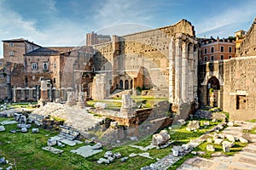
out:
{"label": "tall dark arched opening in the stone wall at right", "polygon": [[207,105],[212,107],[219,107],[218,96],[219,96],[220,85],[217,77],[211,77],[207,82]]}

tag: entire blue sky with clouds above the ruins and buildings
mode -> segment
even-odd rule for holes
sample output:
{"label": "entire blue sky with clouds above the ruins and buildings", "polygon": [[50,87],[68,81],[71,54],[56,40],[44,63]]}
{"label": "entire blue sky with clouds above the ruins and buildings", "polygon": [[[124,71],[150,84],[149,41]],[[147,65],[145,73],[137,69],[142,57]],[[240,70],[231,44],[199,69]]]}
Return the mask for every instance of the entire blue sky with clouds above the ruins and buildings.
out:
{"label": "entire blue sky with clouds above the ruins and buildings", "polygon": [[77,46],[90,31],[121,35],[181,19],[195,26],[197,37],[229,37],[249,29],[255,7],[254,0],[0,0],[0,39]]}

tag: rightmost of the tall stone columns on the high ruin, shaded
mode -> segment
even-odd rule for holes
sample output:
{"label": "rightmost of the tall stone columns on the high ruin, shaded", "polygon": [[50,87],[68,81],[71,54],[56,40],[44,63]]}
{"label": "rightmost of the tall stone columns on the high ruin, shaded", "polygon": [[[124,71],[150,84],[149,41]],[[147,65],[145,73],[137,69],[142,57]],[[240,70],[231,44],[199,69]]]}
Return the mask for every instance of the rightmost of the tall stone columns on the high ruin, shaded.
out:
{"label": "rightmost of the tall stone columns on the high ruin, shaded", "polygon": [[194,101],[193,95],[193,88],[194,88],[194,75],[195,73],[195,66],[194,66],[194,45],[192,43],[189,44],[189,102]]}

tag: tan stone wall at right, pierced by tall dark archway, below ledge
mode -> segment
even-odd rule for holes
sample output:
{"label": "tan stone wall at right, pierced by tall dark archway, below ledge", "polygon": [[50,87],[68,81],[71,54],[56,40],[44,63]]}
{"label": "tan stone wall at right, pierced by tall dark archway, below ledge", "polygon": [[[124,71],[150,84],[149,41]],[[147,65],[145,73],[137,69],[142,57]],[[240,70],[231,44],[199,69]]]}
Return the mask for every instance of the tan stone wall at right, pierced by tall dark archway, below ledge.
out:
{"label": "tan stone wall at right, pierced by tall dark archway, below ledge", "polygon": [[220,84],[218,107],[230,112],[231,120],[251,120],[256,118],[256,56],[225,59],[200,65],[200,102],[209,105],[208,81],[216,77]]}

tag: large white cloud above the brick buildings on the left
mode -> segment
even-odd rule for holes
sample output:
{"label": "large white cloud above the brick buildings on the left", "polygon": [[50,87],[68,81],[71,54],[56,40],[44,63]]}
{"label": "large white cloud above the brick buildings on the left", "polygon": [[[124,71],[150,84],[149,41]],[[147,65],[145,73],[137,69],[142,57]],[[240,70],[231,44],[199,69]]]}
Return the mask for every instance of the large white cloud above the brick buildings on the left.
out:
{"label": "large white cloud above the brick buildings on the left", "polygon": [[[84,41],[82,25],[73,23],[72,20],[55,19],[55,24],[46,30],[39,30],[37,20],[26,20],[15,11],[4,7],[0,1],[0,32],[1,40],[25,38],[41,46],[73,46]],[[55,11],[55,2],[49,1],[49,10]],[[50,12],[49,11],[49,12]],[[3,56],[3,45],[0,47],[0,57]]]}

